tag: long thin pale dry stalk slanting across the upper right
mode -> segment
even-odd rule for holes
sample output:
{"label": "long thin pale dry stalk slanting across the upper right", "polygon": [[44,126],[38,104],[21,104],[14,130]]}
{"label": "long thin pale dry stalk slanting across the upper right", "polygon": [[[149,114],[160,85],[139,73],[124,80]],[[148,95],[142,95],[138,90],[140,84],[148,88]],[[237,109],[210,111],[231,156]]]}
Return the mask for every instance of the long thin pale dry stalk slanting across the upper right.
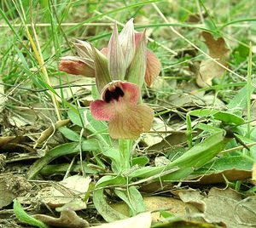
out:
{"label": "long thin pale dry stalk slanting across the upper right", "polygon": [[[155,3],[152,3],[154,9],[157,11],[158,14],[160,14],[160,17],[165,20],[166,23],[170,23],[167,19],[166,16],[164,14],[162,14],[162,12],[160,11],[160,9],[158,8],[158,6]],[[194,43],[190,42],[189,39],[187,39],[186,37],[183,37],[182,34],[180,34],[177,30],[175,30],[172,26],[169,26],[170,29],[172,30],[172,32],[174,32],[178,37],[181,37],[185,42],[189,43],[192,47],[194,47],[195,49],[197,49],[198,51],[200,51],[202,54],[206,55],[210,60],[212,60],[213,62],[215,62],[216,64],[218,64],[218,66],[223,67],[226,71],[229,71],[230,73],[236,75],[237,77],[240,77],[242,80],[247,81],[247,79],[245,77],[242,77],[241,75],[237,74],[235,71],[230,70],[228,67],[224,66],[223,64],[221,64],[220,62],[218,62],[218,60],[213,59],[209,54],[207,54],[206,52],[204,52],[201,48],[198,48]],[[256,85],[254,83],[252,83],[253,87],[256,88]]]}

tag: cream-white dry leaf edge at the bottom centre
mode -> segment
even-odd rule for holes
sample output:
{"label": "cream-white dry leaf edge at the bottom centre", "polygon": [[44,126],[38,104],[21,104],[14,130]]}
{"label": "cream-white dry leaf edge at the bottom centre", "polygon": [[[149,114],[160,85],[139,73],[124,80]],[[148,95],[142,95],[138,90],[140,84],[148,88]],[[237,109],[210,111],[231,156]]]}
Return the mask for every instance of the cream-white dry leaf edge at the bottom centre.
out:
{"label": "cream-white dry leaf edge at the bottom centre", "polygon": [[96,228],[149,228],[151,225],[151,214],[145,212],[137,214],[129,219],[121,219],[108,224],[94,226]]}

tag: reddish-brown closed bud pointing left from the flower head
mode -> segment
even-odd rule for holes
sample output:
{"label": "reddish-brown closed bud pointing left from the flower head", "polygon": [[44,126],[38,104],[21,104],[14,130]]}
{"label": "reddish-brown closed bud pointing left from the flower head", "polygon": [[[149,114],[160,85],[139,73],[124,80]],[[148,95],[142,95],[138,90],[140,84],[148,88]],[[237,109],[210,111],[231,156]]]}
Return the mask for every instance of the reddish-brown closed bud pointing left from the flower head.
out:
{"label": "reddish-brown closed bud pointing left from the flower head", "polygon": [[58,66],[60,71],[74,75],[84,75],[85,77],[95,77],[95,71],[88,66],[82,58],[67,56],[61,59]]}

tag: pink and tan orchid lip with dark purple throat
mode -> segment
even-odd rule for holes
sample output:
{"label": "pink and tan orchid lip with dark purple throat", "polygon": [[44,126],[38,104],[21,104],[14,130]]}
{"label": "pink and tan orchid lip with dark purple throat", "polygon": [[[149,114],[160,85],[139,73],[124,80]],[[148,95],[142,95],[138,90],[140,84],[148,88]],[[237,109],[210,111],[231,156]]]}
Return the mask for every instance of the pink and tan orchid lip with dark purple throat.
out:
{"label": "pink and tan orchid lip with dark purple throat", "polygon": [[115,81],[102,90],[102,100],[90,104],[97,120],[108,121],[113,139],[137,139],[150,129],[154,111],[148,105],[137,104],[140,89],[134,83]]}

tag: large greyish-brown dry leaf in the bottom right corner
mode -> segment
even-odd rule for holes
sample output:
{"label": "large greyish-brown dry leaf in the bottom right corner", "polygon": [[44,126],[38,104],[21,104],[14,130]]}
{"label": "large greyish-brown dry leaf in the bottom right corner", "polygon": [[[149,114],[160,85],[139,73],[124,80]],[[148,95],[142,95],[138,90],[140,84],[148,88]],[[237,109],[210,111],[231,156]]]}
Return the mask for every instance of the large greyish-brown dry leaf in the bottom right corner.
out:
{"label": "large greyish-brown dry leaf in the bottom right corner", "polygon": [[[183,202],[191,203],[203,212],[203,218],[211,223],[224,223],[229,228],[246,228],[256,225],[256,197],[242,199],[232,189],[212,188],[207,196],[200,191],[176,191]],[[246,218],[246,220],[245,220]]]}

